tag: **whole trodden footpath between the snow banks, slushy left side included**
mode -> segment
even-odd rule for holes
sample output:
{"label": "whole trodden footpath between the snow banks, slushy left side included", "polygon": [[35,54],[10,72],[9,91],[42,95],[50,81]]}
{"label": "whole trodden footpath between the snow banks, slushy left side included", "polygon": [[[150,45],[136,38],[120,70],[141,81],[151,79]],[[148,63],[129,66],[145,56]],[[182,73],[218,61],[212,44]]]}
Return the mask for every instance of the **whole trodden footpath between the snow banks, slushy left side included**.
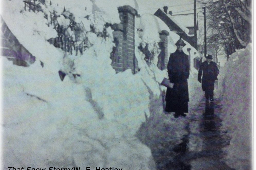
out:
{"label": "whole trodden footpath between the snow banks, slushy left side included", "polygon": [[[196,80],[195,80],[196,81]],[[163,99],[151,100],[151,116],[137,136],[152,152],[158,170],[234,170],[222,160],[230,137],[222,128],[219,100],[206,103],[195,87],[187,117],[165,114]]]}

